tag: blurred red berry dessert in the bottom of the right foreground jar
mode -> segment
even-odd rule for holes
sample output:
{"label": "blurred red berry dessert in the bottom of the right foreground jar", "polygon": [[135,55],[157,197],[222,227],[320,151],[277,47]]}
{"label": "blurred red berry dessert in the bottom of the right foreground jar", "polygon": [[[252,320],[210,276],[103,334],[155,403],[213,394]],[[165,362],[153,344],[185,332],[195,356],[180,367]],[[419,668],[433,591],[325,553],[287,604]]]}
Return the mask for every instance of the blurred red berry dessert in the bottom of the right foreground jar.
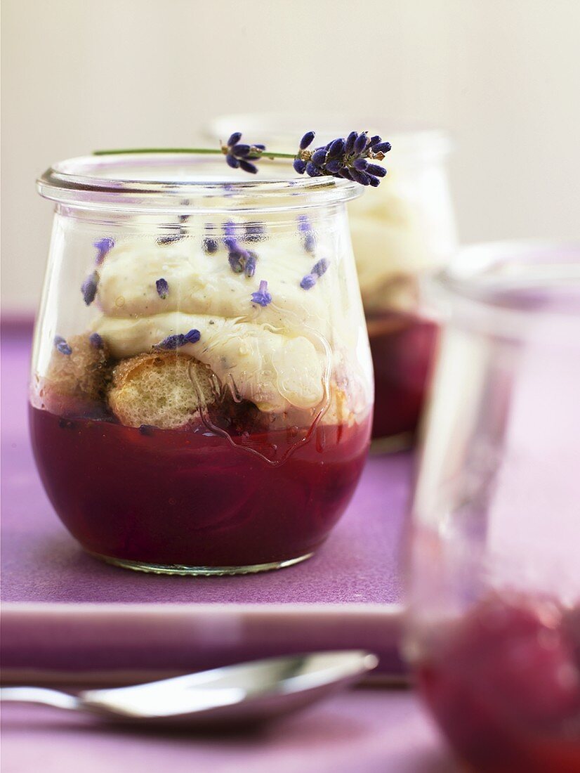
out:
{"label": "blurred red berry dessert in the bottom of the right foreground jar", "polygon": [[478,773],[580,771],[578,609],[490,595],[436,634],[419,689]]}

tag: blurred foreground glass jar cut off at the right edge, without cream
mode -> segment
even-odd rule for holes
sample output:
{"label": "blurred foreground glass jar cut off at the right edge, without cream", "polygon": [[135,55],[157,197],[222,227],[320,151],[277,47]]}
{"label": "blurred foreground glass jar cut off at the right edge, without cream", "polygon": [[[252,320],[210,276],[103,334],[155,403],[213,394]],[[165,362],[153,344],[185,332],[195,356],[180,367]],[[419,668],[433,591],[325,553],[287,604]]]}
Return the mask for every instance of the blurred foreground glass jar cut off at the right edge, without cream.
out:
{"label": "blurred foreground glass jar cut off at the right edge, without cream", "polygon": [[580,770],[580,247],[467,249],[412,511],[406,652],[483,773]]}

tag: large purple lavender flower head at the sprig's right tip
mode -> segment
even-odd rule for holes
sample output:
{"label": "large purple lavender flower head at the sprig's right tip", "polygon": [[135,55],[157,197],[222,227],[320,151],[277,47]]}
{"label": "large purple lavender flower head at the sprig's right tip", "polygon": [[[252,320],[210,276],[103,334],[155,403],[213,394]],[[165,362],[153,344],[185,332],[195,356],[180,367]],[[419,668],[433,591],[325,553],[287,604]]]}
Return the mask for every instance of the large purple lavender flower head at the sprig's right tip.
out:
{"label": "large purple lavender flower head at the sprig's right tip", "polygon": [[369,163],[369,160],[382,161],[391,149],[390,142],[383,142],[378,135],[368,138],[366,131],[361,134],[351,131],[346,139],[338,137],[324,147],[308,150],[313,140],[314,132],[311,131],[300,140],[293,163],[299,175],[331,175],[376,188],[386,174],[382,166]]}

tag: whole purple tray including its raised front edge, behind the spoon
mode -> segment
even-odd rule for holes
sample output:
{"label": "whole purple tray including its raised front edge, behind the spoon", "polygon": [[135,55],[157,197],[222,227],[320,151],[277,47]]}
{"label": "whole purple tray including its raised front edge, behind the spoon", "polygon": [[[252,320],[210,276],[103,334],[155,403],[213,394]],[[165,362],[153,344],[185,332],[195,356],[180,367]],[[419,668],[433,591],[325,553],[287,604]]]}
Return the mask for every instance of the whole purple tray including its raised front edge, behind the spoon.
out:
{"label": "whole purple tray including its raised front edge, behind the spoon", "polygon": [[371,458],[327,543],[296,567],[211,578],[110,567],[80,550],[40,485],[25,416],[30,332],[2,330],[5,678],[56,671],[75,682],[126,681],[340,647],[371,649],[379,673],[401,673],[397,556],[409,455]]}

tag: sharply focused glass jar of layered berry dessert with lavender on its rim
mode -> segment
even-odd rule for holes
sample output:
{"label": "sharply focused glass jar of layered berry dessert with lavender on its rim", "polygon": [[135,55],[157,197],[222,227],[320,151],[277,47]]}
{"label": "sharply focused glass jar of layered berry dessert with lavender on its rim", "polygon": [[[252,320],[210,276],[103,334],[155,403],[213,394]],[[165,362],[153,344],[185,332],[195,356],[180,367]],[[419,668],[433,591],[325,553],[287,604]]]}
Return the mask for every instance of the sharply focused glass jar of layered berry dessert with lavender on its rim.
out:
{"label": "sharply focused glass jar of layered berry dessert with lavender on its rim", "polygon": [[361,475],[372,369],[346,212],[357,186],[266,167],[256,182],[221,157],[115,155],[39,180],[56,207],[32,443],[59,517],[111,564],[295,564]]}

